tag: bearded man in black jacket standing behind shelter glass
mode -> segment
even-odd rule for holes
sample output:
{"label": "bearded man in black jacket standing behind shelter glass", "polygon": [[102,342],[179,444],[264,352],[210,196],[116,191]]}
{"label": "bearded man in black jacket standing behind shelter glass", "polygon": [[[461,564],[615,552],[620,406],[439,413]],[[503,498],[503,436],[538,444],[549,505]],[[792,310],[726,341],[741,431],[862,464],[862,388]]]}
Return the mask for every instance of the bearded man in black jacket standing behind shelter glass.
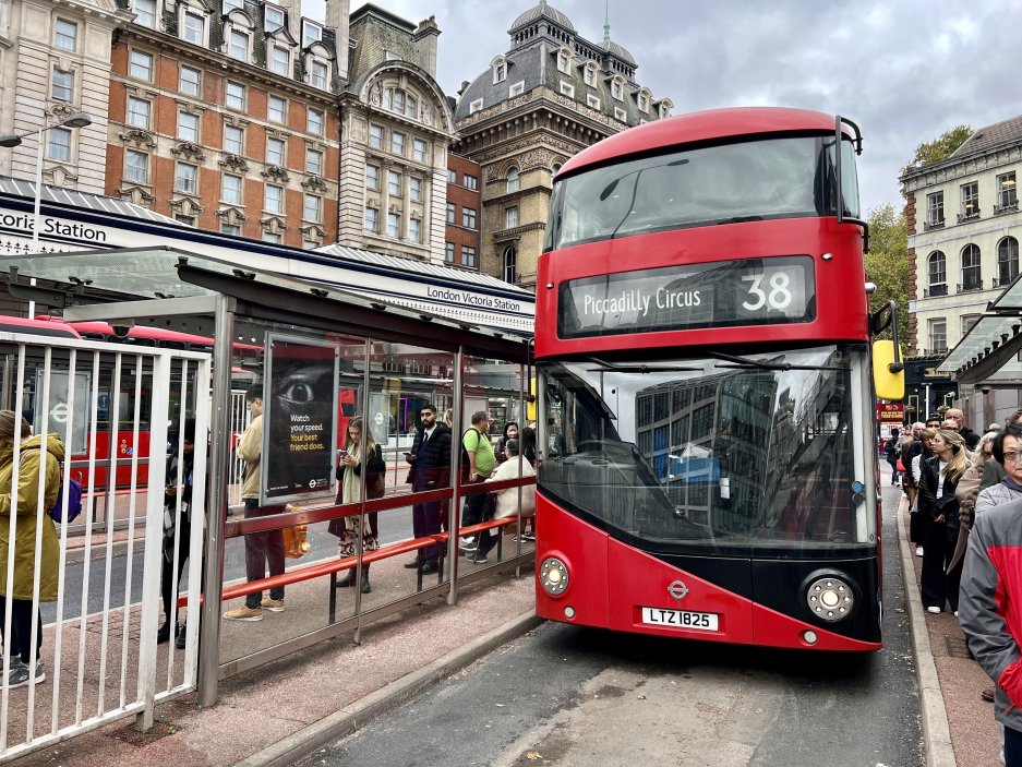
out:
{"label": "bearded man in black jacket standing behind shelter glass", "polygon": [[[419,429],[411,445],[411,452],[405,459],[411,465],[408,481],[412,492],[446,488],[450,483],[450,429],[436,422],[436,408],[423,405],[419,410]],[[416,503],[411,507],[411,529],[416,538],[432,536],[441,530],[440,501]],[[437,547],[431,546],[419,551],[419,555],[405,564],[406,567],[419,567],[423,573],[435,573]]]}

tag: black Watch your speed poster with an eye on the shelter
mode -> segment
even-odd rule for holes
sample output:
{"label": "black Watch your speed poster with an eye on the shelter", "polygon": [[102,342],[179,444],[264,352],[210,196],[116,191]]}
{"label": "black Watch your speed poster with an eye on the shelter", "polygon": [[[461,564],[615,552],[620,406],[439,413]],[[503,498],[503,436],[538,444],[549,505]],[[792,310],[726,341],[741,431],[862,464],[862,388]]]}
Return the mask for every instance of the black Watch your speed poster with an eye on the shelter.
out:
{"label": "black Watch your speed poster with an eye on the shelter", "polygon": [[263,399],[263,505],[334,496],[336,344],[270,335]]}

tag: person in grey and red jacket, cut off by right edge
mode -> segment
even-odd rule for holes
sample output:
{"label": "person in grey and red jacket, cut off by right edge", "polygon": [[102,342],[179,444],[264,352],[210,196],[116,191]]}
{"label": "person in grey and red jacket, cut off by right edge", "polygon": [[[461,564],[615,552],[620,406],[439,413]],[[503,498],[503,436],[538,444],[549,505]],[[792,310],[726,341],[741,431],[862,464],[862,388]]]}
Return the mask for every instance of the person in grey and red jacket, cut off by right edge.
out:
{"label": "person in grey and red jacket, cut off by right edge", "polygon": [[994,712],[1005,728],[1007,767],[1022,767],[1020,573],[1022,500],[976,516],[969,537],[959,597],[959,620],[969,648],[983,670],[997,683]]}

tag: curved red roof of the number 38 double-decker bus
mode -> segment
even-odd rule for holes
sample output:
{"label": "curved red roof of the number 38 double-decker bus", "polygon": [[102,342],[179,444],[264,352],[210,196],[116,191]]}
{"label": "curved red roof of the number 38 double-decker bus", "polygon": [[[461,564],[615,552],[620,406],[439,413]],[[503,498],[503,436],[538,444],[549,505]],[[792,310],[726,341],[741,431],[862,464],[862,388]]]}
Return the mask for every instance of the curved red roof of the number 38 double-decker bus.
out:
{"label": "curved red roof of the number 38 double-decker bus", "polygon": [[764,133],[833,130],[833,115],[808,109],[735,107],[678,115],[630,128],[582,149],[564,164],[557,178],[590,166],[624,159],[629,155],[642,155],[682,144]]}

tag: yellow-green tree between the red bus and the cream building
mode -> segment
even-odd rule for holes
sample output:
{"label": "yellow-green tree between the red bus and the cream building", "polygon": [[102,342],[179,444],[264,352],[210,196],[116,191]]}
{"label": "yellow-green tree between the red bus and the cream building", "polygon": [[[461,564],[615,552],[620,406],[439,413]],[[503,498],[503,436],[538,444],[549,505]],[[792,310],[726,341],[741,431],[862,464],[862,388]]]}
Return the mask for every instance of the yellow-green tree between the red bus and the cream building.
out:
{"label": "yellow-green tree between the red bus and the cream building", "polygon": [[[909,332],[909,224],[904,208],[895,214],[893,205],[880,205],[869,212],[866,278],[877,286],[869,297],[870,311],[891,300],[898,304],[899,340],[904,346]],[[890,329],[881,337],[890,338]]]}

